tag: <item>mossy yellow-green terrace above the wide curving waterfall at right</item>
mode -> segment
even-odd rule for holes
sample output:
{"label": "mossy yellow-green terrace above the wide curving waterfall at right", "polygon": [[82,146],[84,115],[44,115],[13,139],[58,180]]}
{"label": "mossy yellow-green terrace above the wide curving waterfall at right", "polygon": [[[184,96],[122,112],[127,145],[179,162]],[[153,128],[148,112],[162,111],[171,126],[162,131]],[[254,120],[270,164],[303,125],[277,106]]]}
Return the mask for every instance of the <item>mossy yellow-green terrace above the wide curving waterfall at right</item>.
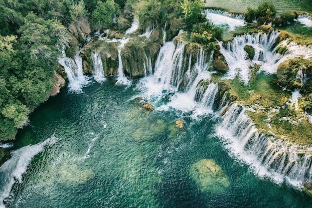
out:
{"label": "mossy yellow-green terrace above the wide curving waterfall at right", "polygon": [[300,108],[289,106],[291,93],[283,91],[276,84],[276,75],[259,73],[248,85],[236,77],[233,80],[220,80],[221,73],[213,74],[214,82],[224,82],[231,95],[245,106],[255,111],[246,111],[260,132],[274,135],[299,145],[312,145],[312,123]]}

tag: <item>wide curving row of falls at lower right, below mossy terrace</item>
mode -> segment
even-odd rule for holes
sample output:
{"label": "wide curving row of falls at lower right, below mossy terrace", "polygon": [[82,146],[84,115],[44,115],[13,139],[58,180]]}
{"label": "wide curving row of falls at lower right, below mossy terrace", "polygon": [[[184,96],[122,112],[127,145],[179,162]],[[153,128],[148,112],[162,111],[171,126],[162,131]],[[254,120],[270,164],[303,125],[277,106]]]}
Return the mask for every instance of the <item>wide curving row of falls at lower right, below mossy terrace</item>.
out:
{"label": "wide curving row of falls at lower right, below mossy terrace", "polygon": [[232,104],[216,129],[230,154],[261,178],[285,181],[296,188],[302,188],[304,181],[312,182],[311,148],[259,133],[245,110]]}

